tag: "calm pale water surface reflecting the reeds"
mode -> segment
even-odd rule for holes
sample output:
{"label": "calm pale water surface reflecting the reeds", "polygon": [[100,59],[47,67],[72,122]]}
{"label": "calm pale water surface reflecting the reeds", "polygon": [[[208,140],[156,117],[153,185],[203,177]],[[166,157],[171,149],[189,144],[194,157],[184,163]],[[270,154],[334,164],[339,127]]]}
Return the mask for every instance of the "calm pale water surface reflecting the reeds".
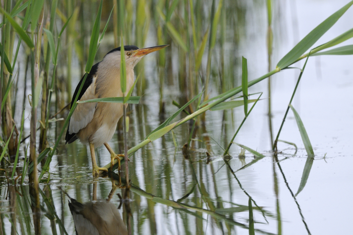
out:
{"label": "calm pale water surface reflecting the reeds", "polygon": [[[274,17],[274,64],[298,39],[347,1],[295,2],[296,10],[289,1],[275,9],[275,13],[280,12],[280,15]],[[247,6],[246,9],[244,28],[247,30],[239,41],[238,49],[230,48],[230,53],[248,59],[249,79],[252,80],[267,72],[267,16],[263,4],[256,3],[256,6]],[[350,29],[352,10],[349,9],[317,45]],[[146,46],[154,45],[152,40],[147,41]],[[130,147],[140,143],[163,122],[156,102],[159,89],[154,85],[158,84],[158,75],[153,67],[156,56],[144,59],[146,68],[150,68],[146,69],[149,86],[141,104],[133,106],[130,114]],[[68,202],[70,198],[83,203],[72,203],[71,207],[84,210],[86,219],[90,216],[95,221],[99,221],[98,216],[115,218],[112,224],[121,234],[126,234],[126,225],[133,234],[248,234],[250,197],[256,234],[307,234],[308,231],[312,234],[348,234],[349,211],[353,208],[348,198],[353,193],[353,186],[349,183],[353,177],[350,170],[353,164],[352,58],[322,56],[308,60],[293,106],[310,137],[315,159],[307,183],[296,197],[307,160],[306,152],[290,111],[280,139],[295,143],[298,151],[295,153],[293,146],[280,143],[280,153],[273,156],[266,99],[254,108],[235,139],[236,143],[255,149],[266,157],[239,170],[254,156],[249,152],[245,157],[239,156],[241,149],[233,145],[230,150],[232,157],[226,159],[228,164],[225,164],[222,148],[227,146],[244,118],[244,111],[242,108],[234,109],[233,113],[209,111],[206,124],[200,125],[196,131],[187,158],[181,147],[188,139],[188,125],[174,130],[180,148],[174,147],[169,133],[130,157],[129,172],[133,186],[128,202],[121,202],[117,195],[124,195],[124,179],[119,185],[118,175],[92,178],[91,156],[85,146],[80,143],[60,146],[51,163],[50,181],[40,184],[42,234],[75,234]],[[302,65],[303,62],[299,62],[297,66]],[[272,122],[275,134],[297,76],[298,72],[293,69],[273,76]],[[75,80],[74,85],[77,82]],[[217,94],[216,88],[211,86],[211,90],[212,96]],[[267,98],[266,90],[267,82],[262,82],[251,87],[249,92],[264,91],[263,97]],[[166,84],[164,94],[168,116],[176,110],[171,101],[178,100],[181,91],[176,83]],[[122,151],[122,137],[118,133],[111,143],[116,152]],[[96,154],[99,166],[110,161],[105,148],[99,148]],[[8,186],[4,175],[1,179],[2,231],[4,234],[34,234],[29,186]],[[126,206],[130,207],[130,216],[126,213]],[[97,223],[100,229],[104,228],[103,223]]]}

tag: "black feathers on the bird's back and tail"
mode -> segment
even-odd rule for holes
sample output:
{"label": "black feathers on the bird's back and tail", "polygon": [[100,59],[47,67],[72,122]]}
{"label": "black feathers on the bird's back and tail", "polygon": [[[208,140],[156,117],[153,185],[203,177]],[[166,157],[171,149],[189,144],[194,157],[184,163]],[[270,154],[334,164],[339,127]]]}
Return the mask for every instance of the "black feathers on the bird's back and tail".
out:
{"label": "black feathers on the bird's back and tail", "polygon": [[[86,81],[83,83],[81,92],[78,95],[78,99],[80,100],[81,97],[83,96],[84,92],[87,90],[87,88],[89,88],[89,86],[92,84],[93,81],[93,77],[96,75],[97,73],[97,69],[98,69],[98,64],[96,63],[95,65],[92,66],[90,73],[87,75]],[[80,82],[77,84],[74,95],[72,97],[71,100],[71,106],[72,107],[72,102],[75,100],[75,97],[77,96],[78,90],[80,89],[80,86],[82,84],[84,76],[81,78]],[[69,127],[70,127],[70,121],[69,121],[69,125],[68,125],[68,130],[66,131],[66,135],[65,135],[65,144],[71,144],[73,143],[76,139],[78,139],[78,137],[76,136],[76,133],[72,133],[69,134]]]}

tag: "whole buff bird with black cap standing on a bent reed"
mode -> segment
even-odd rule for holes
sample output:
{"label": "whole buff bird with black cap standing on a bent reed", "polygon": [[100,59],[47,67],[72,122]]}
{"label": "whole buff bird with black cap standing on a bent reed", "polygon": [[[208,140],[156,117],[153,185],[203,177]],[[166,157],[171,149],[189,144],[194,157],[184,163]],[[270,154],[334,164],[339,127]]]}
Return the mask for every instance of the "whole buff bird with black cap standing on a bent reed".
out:
{"label": "whole buff bird with black cap standing on a bent reed", "polygon": [[[168,45],[152,46],[150,48],[139,49],[135,45],[124,45],[125,66],[126,66],[126,92],[134,84],[134,67],[147,54],[165,48]],[[91,100],[107,97],[123,97],[120,86],[120,64],[121,64],[121,47],[109,51],[103,60],[92,66],[90,73],[87,74],[86,80],[78,95],[78,100]],[[83,82],[84,76],[78,83],[71,102],[75,100],[79,88]],[[125,106],[125,107],[124,107]],[[95,157],[95,148],[102,145],[111,154],[111,166],[114,160],[118,160],[118,169],[120,170],[120,157],[123,154],[116,154],[108,145],[112,139],[118,121],[123,115],[123,107],[127,104],[121,103],[79,103],[74,110],[69,126],[65,135],[65,144],[71,144],[79,139],[84,145],[90,146],[93,176],[98,176],[99,171],[107,172],[108,169],[97,166]]]}

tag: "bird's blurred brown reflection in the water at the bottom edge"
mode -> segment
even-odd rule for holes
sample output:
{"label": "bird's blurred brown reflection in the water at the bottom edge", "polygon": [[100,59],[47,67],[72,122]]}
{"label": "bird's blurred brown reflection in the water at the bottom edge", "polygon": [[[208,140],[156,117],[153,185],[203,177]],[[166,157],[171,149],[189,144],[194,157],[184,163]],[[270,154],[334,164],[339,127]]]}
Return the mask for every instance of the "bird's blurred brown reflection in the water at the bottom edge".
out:
{"label": "bird's blurred brown reflection in the water at the bottom edge", "polygon": [[122,187],[121,181],[115,180],[119,176],[115,173],[112,174],[114,174],[114,176],[111,175],[112,191],[109,193],[108,199],[97,200],[97,182],[93,184],[92,202],[80,203],[70,198],[69,207],[77,235],[127,234],[126,225],[120,216],[119,210],[111,202],[115,191]]}

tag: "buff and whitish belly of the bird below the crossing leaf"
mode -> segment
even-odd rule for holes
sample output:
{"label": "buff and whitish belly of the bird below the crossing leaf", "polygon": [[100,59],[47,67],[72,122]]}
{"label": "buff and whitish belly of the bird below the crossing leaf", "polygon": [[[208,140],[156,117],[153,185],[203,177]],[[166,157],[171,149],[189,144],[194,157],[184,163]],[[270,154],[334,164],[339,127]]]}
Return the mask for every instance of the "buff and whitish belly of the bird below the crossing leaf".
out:
{"label": "buff and whitish belly of the bird below the crossing leaf", "polygon": [[[90,137],[91,142],[95,147],[103,145],[112,139],[117,128],[118,121],[123,115],[123,104],[117,103],[100,103],[102,107],[97,106],[96,120],[100,120],[100,125],[97,125],[97,130]],[[95,113],[95,115],[96,115]]]}

